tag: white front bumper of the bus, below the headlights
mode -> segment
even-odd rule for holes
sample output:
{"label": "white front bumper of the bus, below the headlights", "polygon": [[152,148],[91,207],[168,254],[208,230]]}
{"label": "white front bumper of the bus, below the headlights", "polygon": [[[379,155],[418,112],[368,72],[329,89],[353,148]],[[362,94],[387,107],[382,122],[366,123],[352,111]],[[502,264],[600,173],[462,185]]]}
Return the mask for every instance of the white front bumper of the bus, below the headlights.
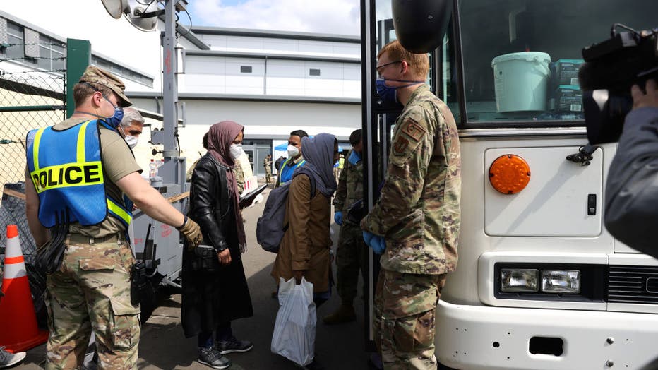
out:
{"label": "white front bumper of the bus, below the headlights", "polygon": [[436,356],[455,369],[639,369],[657,343],[657,314],[440,301],[436,315]]}

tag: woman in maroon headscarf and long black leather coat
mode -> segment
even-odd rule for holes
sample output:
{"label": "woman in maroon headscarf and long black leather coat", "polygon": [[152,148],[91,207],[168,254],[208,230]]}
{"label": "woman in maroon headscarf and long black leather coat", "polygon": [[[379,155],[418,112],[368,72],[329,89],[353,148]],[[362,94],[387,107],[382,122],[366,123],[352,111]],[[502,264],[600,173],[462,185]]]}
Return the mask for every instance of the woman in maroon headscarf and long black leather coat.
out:
{"label": "woman in maroon headscarf and long black leather coat", "polygon": [[190,186],[189,217],[201,227],[203,242],[184,248],[181,321],[186,338],[197,336],[198,362],[215,369],[231,365],[223,354],[253,348],[251,342],[237,340],[231,328],[232,320],[253,316],[241,259],[246,237],[234,172],[244,153],[243,130],[233,121],[210,126],[208,153],[196,164]]}

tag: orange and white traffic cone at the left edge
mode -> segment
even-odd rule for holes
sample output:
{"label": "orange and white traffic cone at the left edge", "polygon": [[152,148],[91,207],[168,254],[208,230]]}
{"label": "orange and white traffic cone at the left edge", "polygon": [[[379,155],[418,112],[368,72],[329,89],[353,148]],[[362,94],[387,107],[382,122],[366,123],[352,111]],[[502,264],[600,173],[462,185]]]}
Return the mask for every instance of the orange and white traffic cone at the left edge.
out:
{"label": "orange and white traffic cone at the left edge", "polygon": [[37,327],[37,316],[16,225],[7,226],[2,292],[4,297],[0,298],[0,347],[5,346],[11,352],[20,352],[44,343],[48,339],[48,332]]}

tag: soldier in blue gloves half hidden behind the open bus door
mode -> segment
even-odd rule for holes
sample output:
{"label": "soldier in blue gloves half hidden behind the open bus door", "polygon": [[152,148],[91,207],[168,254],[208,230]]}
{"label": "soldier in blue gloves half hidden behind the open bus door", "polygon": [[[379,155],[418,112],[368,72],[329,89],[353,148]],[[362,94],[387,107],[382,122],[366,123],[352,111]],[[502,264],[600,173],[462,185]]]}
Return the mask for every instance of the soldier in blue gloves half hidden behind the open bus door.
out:
{"label": "soldier in blue gloves half hidden behind the open bus door", "polygon": [[352,150],[347,155],[345,168],[340,172],[338,188],[333,200],[334,220],[340,225],[336,266],[337,291],[341,304],[333,314],[323,318],[323,322],[329,325],[353,321],[356,318],[354,297],[357,295],[359,270],[361,270],[361,274],[366,271],[367,249],[364,244],[363,232],[358,224],[351,222],[347,217],[349,207],[363,199],[364,196],[361,129],[352,132],[349,136],[349,143],[352,145]]}

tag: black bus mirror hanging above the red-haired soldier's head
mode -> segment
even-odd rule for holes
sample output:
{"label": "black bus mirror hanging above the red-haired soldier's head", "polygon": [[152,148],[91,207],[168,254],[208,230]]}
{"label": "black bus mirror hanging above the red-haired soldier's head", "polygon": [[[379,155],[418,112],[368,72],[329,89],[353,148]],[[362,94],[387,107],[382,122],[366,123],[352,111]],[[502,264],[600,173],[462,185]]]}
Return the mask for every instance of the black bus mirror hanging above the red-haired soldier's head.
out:
{"label": "black bus mirror hanging above the red-haired soldier's head", "polygon": [[453,0],[392,0],[391,8],[397,40],[409,52],[423,54],[443,42]]}

